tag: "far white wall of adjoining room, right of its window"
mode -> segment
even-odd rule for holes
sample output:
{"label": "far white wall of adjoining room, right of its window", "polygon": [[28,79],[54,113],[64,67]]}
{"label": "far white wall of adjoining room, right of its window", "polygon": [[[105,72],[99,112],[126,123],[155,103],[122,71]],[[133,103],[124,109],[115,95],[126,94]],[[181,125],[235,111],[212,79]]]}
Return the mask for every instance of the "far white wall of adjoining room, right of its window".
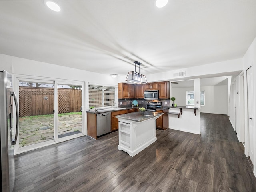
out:
{"label": "far white wall of adjoining room, right of its window", "polygon": [[201,106],[201,113],[228,114],[228,86],[202,86],[205,105]]}

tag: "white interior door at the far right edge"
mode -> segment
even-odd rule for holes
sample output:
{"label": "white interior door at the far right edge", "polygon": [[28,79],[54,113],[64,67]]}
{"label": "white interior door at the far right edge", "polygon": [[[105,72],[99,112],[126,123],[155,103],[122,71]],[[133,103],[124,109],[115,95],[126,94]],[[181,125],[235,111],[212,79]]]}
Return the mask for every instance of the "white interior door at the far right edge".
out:
{"label": "white interior door at the far right edge", "polygon": [[254,163],[254,74],[253,66],[247,71],[247,99],[248,99],[248,155]]}

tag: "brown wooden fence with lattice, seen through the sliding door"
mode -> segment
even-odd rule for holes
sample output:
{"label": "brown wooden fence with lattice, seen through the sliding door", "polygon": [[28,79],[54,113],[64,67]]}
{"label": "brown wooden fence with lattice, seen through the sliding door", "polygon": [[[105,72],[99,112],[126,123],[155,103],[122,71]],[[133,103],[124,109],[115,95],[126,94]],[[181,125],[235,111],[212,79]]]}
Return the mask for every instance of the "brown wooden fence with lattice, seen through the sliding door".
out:
{"label": "brown wooden fence with lattice, seen through the sliding door", "polygon": [[[53,114],[54,88],[20,87],[20,117]],[[58,88],[58,114],[80,112],[82,90]]]}

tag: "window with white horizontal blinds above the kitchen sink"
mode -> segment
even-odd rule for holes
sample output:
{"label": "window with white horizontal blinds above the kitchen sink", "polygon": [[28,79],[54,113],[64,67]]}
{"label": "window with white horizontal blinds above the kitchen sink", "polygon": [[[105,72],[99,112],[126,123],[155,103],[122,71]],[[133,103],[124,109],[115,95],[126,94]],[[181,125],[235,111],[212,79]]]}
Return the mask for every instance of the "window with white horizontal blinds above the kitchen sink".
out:
{"label": "window with white horizontal blinds above the kitchen sink", "polygon": [[116,99],[116,87],[89,85],[89,107],[112,106]]}

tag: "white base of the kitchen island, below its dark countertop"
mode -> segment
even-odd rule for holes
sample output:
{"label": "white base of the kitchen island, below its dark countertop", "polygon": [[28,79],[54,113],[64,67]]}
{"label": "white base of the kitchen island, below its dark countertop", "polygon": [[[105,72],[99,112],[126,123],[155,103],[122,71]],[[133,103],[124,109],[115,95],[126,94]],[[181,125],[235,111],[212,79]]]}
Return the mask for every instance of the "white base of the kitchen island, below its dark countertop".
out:
{"label": "white base of the kitchen island, below its dark countertop", "polygon": [[130,156],[135,156],[156,141],[156,119],[136,122],[133,120],[119,119],[119,145],[117,148],[127,152]]}

